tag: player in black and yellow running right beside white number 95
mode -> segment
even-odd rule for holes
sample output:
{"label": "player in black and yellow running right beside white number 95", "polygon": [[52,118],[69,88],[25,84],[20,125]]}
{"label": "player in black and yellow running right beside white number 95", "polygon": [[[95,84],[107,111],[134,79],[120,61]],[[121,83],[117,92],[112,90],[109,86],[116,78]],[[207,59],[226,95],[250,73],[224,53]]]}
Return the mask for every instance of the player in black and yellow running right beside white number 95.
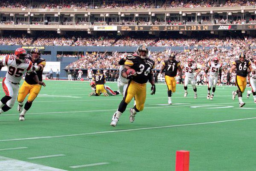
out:
{"label": "player in black and yellow running right beside white number 95", "polygon": [[[44,66],[46,64],[46,60],[41,58],[41,51],[39,48],[32,48],[30,51],[30,54],[27,56],[27,59],[31,60],[33,63],[33,70],[36,72],[39,81],[42,81],[42,74],[44,70]],[[39,94],[41,90],[40,84],[38,84],[34,79],[34,74],[26,74],[25,76],[25,81],[20,87],[19,94],[17,101],[19,102],[18,104],[18,112],[20,113],[20,119],[19,120],[25,120],[25,114],[31,108],[33,101]],[[43,85],[45,86],[45,85]],[[25,103],[25,106],[22,110],[23,106],[23,101],[26,98],[26,96],[29,94],[29,97]]]}

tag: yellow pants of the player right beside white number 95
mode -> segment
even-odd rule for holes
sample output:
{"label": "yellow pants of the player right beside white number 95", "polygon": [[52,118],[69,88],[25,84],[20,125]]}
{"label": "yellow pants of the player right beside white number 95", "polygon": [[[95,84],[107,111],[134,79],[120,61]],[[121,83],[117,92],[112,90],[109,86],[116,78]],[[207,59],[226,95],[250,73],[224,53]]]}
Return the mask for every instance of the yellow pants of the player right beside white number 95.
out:
{"label": "yellow pants of the player right beside white number 95", "polygon": [[23,102],[26,96],[29,94],[28,101],[32,102],[35,100],[35,97],[39,94],[41,90],[41,85],[39,84],[29,84],[26,81],[21,85],[19,89],[19,94],[17,101]]}

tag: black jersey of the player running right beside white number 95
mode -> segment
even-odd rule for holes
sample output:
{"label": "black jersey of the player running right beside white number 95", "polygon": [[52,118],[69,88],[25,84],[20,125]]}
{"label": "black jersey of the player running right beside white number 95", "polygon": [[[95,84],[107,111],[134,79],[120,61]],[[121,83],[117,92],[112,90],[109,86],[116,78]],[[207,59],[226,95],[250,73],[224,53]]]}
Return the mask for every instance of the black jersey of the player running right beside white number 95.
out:
{"label": "black jersey of the player running right beside white number 95", "polygon": [[[32,62],[32,59],[31,59],[30,56],[27,57],[27,58],[28,58],[29,60],[31,60],[31,62]],[[33,63],[33,66],[37,66],[37,65],[39,65],[39,64],[41,64],[42,66],[45,66],[46,60],[43,59],[43,58],[39,58],[38,60],[36,60],[36,61]],[[43,80],[43,78],[42,78],[43,71],[35,71],[35,72],[36,72],[36,74],[38,75],[39,81],[42,81],[42,80]],[[25,81],[26,81],[27,83],[29,83],[29,84],[37,84],[37,83],[35,82],[35,80],[33,79],[34,76],[35,76],[35,75],[33,75],[33,74],[26,74],[26,76],[25,76]]]}

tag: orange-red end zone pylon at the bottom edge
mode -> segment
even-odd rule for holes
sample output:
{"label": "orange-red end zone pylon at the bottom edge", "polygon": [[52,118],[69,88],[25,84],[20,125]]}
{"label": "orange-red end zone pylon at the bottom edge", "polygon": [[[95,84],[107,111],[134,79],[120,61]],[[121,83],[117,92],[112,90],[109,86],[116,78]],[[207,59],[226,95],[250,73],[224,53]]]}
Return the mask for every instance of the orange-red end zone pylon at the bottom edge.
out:
{"label": "orange-red end zone pylon at the bottom edge", "polygon": [[176,151],[175,171],[189,171],[189,151]]}

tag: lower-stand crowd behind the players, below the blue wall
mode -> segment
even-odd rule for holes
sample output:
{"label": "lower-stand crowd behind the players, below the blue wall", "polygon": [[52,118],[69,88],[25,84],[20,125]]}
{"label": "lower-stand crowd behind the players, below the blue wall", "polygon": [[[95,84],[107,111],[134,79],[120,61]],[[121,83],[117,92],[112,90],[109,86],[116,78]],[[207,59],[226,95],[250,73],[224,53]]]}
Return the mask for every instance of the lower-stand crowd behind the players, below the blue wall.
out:
{"label": "lower-stand crowd behind the players, below the blue wall", "polygon": [[[234,60],[239,59],[239,54],[244,52],[248,60],[254,60],[256,57],[256,51],[253,48],[248,48],[248,46],[235,46],[233,48],[194,48],[188,49],[180,52],[172,52],[168,49],[163,52],[149,52],[148,57],[155,61],[155,69],[159,70],[162,66],[162,61],[169,58],[169,54],[175,53],[176,59],[180,60],[181,65],[184,65],[189,58],[194,60],[194,63],[198,65],[198,68],[201,69],[201,72],[197,74],[198,84],[206,84],[207,75],[205,74],[206,66],[209,61],[214,57],[218,57],[219,62],[223,64],[222,68],[222,77],[221,83],[227,83],[227,72],[232,66]],[[96,53],[86,54],[84,57],[81,57],[79,60],[71,63],[66,68],[90,68],[90,69],[118,69],[118,61],[120,57],[127,55],[127,53],[118,53],[113,52],[112,54],[108,53]],[[184,71],[183,71],[184,75]],[[236,74],[231,74],[231,84],[235,84]]]}

